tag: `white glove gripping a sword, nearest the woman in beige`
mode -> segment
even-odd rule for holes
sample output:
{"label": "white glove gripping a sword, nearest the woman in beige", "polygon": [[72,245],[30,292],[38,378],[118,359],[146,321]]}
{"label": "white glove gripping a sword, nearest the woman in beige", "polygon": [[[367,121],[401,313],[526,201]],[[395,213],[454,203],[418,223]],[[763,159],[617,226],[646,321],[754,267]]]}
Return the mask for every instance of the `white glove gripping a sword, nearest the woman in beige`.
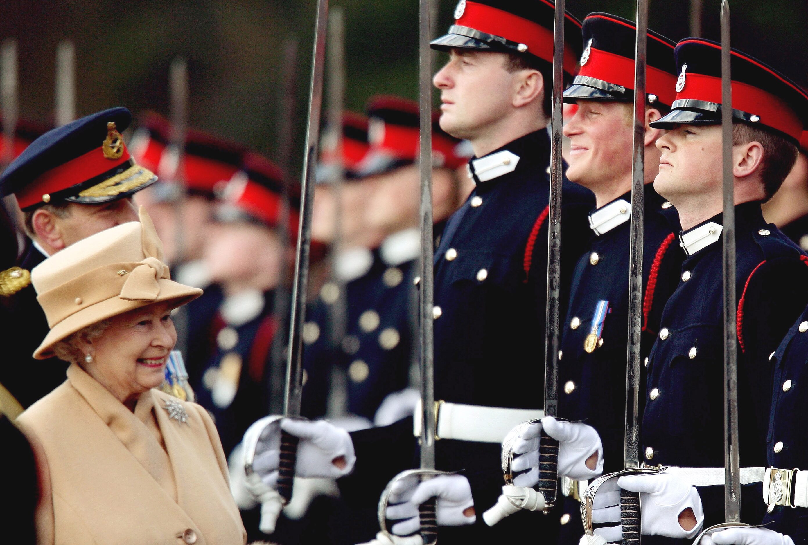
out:
{"label": "white glove gripping a sword, nearest the woman in beige", "polygon": [[275,488],[278,481],[281,428],[301,439],[297,445],[296,476],[337,479],[353,471],[356,455],[347,431],[324,420],[282,418],[278,426],[279,421],[273,418],[254,422],[244,434],[245,445],[256,444],[253,471],[267,486]]}

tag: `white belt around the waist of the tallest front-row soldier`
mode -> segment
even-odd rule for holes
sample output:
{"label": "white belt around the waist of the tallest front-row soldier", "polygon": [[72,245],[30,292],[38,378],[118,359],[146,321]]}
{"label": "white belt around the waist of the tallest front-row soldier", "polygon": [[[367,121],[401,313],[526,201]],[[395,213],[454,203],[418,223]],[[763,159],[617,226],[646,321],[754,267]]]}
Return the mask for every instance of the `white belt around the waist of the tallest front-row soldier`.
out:
{"label": "white belt around the waist of the tallest front-row soldier", "polygon": [[[436,439],[503,442],[517,424],[544,416],[541,409],[503,409],[436,401]],[[421,436],[421,401],[415,406],[413,434]]]}

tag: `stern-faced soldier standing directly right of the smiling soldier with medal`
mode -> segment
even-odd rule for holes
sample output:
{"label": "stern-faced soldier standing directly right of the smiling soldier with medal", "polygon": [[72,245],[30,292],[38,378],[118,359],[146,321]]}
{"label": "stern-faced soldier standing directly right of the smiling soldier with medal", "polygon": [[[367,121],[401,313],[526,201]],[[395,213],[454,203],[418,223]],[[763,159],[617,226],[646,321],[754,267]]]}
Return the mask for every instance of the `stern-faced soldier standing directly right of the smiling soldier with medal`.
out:
{"label": "stern-faced soldier standing directly right of the smiling soldier with medal", "polygon": [[[648,360],[641,448],[646,465],[678,466],[680,475],[698,467],[701,476],[712,467],[723,483],[721,45],[688,38],[677,44],[675,57],[680,74],[676,100],[668,115],[651,123],[668,130],[657,140],[662,157],[654,188],[679,212],[680,243],[688,257]],[[777,191],[793,167],[808,119],[808,95],[743,52],[733,50],[731,57],[734,306],[743,399],[739,454],[743,466],[755,467],[767,459],[773,356],[808,301],[806,256],[766,223],[760,203]],[[779,453],[783,443],[772,448]],[[663,472],[624,476],[618,484],[640,493],[642,533],[665,536],[649,541],[674,538],[684,543],[702,525],[724,520],[722,484],[701,476]],[[760,485],[742,484],[743,522],[759,523],[765,511]],[[618,523],[596,533],[607,541],[620,539],[619,513],[604,502],[597,505],[597,499],[595,504],[601,508],[592,515],[595,522]]]}

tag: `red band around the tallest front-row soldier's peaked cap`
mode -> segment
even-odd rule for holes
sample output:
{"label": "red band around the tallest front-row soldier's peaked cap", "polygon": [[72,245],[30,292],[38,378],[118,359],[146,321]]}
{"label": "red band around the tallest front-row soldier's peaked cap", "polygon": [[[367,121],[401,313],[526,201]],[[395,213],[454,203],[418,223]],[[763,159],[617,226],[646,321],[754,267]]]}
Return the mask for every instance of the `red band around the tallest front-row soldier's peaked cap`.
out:
{"label": "red band around the tallest front-row soldier's peaked cap", "polygon": [[[519,15],[477,2],[466,2],[463,15],[457,19],[456,24],[501,36],[517,44],[525,44],[528,46],[528,53],[547,62],[553,62],[553,31]],[[572,48],[565,47],[564,70],[572,74],[577,68],[578,59],[575,53]]]}

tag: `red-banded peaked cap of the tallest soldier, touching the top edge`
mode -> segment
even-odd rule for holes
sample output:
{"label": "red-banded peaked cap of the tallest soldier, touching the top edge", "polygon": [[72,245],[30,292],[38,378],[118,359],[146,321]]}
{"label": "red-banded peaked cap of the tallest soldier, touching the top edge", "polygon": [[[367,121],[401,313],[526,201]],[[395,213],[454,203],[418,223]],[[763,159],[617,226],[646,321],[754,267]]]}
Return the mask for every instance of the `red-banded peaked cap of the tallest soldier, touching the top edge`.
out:
{"label": "red-banded peaked cap of the tallest soldier, touching the top edge", "polygon": [[[532,55],[552,65],[555,4],[550,0],[460,0],[448,33],[432,40],[433,49],[452,48]],[[581,23],[565,13],[564,71],[578,68]]]}

